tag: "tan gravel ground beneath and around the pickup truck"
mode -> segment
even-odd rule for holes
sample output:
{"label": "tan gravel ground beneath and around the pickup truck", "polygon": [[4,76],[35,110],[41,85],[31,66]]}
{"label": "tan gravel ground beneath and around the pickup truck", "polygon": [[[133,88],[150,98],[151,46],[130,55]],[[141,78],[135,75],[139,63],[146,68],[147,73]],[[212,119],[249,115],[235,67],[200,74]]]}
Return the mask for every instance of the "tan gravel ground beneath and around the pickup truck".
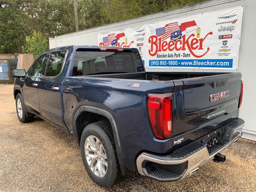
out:
{"label": "tan gravel ground beneath and around the pickup truck", "polygon": [[76,140],[48,122],[19,122],[13,84],[0,84],[0,191],[256,191],[256,142],[240,139],[226,162],[205,164],[174,183],[131,173],[104,189],[88,176]]}

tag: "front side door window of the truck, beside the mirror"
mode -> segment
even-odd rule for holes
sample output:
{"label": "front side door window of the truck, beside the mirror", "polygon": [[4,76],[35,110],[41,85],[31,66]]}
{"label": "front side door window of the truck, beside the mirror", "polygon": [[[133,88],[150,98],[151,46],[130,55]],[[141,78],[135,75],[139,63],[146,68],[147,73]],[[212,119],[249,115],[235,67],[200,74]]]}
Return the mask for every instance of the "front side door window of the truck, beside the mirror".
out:
{"label": "front side door window of the truck, beside the mirror", "polygon": [[43,54],[40,56],[34,65],[31,67],[30,72],[28,73],[29,76],[34,76],[34,77],[40,77],[44,75],[44,71],[46,68],[46,64],[49,58],[49,53]]}

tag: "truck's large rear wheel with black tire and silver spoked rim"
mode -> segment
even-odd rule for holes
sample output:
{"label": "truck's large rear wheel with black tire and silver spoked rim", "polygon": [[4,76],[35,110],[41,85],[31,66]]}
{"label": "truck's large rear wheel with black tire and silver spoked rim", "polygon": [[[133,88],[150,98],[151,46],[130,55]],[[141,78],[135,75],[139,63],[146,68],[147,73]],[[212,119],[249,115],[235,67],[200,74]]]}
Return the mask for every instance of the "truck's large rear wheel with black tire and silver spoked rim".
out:
{"label": "truck's large rear wheel with black tire and silver spoked rim", "polygon": [[110,187],[121,177],[111,126],[99,121],[86,126],[81,136],[81,154],[89,176],[102,187]]}

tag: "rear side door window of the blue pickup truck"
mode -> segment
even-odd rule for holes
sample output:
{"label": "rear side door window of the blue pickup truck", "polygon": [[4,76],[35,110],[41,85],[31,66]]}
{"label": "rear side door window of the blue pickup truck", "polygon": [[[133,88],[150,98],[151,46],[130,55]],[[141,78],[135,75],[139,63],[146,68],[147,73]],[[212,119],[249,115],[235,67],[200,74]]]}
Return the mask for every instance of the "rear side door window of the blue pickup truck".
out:
{"label": "rear side door window of the blue pickup truck", "polygon": [[64,58],[66,55],[66,51],[58,51],[58,52],[52,52],[47,68],[46,68],[46,75],[47,77],[54,77],[58,74],[60,74]]}

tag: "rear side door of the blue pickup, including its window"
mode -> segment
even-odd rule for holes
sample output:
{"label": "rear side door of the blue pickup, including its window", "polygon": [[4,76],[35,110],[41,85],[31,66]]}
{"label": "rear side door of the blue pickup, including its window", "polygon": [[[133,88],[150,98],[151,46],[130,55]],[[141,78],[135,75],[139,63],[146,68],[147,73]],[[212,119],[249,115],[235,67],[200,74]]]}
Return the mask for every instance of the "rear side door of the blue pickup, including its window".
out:
{"label": "rear side door of the blue pickup, including its window", "polygon": [[41,76],[38,83],[41,116],[61,127],[63,127],[63,124],[60,84],[63,77],[61,71],[66,54],[66,50],[50,53],[45,76]]}

